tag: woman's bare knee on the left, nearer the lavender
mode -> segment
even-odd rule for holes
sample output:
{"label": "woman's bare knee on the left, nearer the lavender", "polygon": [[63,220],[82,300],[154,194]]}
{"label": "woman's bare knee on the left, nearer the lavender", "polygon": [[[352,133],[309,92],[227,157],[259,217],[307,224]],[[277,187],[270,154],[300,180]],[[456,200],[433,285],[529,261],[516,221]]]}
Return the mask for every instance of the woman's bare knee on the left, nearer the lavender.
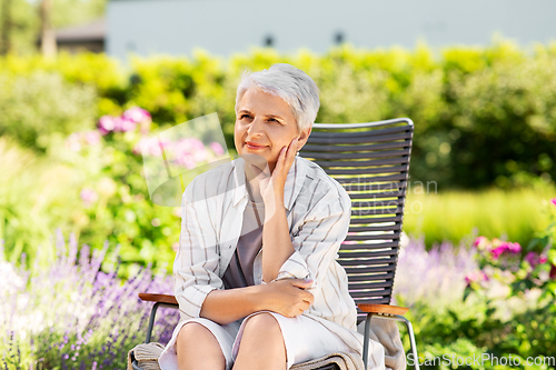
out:
{"label": "woman's bare knee on the left, nearer the lavender", "polygon": [[186,323],[178,333],[176,352],[180,370],[224,370],[226,359],[215,336],[202,324]]}

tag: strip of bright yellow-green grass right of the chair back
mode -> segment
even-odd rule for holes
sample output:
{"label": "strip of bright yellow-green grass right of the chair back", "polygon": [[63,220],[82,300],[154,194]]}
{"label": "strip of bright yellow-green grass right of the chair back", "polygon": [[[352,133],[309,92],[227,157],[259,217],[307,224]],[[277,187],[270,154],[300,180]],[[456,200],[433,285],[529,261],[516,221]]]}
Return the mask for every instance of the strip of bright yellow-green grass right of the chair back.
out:
{"label": "strip of bright yellow-green grass right of the chair back", "polygon": [[536,231],[548,224],[549,200],[555,188],[500,190],[479,192],[448,191],[408,193],[404,230],[434,242],[458,242],[474,233],[487,238],[507,238],[527,246]]}

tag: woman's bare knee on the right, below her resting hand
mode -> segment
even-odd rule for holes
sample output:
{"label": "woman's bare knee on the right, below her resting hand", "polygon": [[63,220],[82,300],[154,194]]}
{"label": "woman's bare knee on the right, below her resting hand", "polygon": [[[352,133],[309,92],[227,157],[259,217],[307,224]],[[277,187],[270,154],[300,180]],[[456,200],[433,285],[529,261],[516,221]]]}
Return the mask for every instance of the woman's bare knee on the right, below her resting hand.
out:
{"label": "woman's bare knee on the right, below her resting hand", "polygon": [[261,312],[247,319],[234,370],[284,370],[286,347],[272,314]]}

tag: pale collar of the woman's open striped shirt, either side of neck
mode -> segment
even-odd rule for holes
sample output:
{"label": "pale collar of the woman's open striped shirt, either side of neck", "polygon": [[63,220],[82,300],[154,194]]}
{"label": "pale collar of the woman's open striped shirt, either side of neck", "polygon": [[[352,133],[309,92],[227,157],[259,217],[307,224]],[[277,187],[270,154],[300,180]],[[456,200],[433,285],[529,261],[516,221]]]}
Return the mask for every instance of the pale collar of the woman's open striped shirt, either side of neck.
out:
{"label": "pale collar of the woman's open striped shirt, either side of neck", "polygon": [[[241,199],[248,197],[245,183],[245,160],[240,157],[234,160],[231,164],[234,166],[234,179],[236,183],[236,188],[234,189],[234,206],[237,206]],[[286,186],[284,187],[284,207],[287,210],[291,209],[299,196],[306,174],[307,164],[304,162],[304,159],[296,156],[296,160],[288,171]]]}

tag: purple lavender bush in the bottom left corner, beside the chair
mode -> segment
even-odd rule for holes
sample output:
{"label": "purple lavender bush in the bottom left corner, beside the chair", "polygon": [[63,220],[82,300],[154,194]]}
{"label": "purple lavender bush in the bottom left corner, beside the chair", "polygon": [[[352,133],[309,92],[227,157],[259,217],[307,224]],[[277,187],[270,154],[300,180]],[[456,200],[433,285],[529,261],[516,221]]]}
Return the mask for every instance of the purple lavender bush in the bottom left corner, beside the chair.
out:
{"label": "purple lavender bush in the bottom left corner, beside the chair", "polygon": [[[121,281],[103,271],[108,243],[90,252],[57,233],[57,257],[29,272],[0,261],[0,353],[6,369],[126,369],[127,352],[143,341],[151,304],[138,292],[170,292],[150,266]],[[3,257],[1,251],[0,257]],[[43,261],[43,259],[42,259]],[[109,259],[107,260],[109,262]],[[109,263],[107,263],[109,264]],[[161,309],[152,340],[166,343],[178,311]]]}

